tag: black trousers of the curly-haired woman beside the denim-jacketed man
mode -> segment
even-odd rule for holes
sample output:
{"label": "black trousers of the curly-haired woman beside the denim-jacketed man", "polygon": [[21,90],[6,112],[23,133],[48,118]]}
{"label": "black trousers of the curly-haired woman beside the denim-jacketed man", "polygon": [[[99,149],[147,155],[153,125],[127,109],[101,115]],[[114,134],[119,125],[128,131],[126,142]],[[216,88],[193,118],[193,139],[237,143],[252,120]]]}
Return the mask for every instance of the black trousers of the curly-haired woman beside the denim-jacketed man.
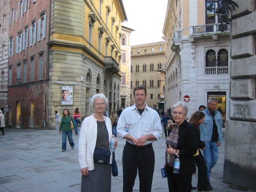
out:
{"label": "black trousers of the curly-haired woman beside the denim-jacketed man", "polygon": [[207,188],[207,167],[204,161],[204,156],[199,150],[199,155],[195,156],[196,166],[198,167],[198,181],[197,189],[198,191],[203,191]]}

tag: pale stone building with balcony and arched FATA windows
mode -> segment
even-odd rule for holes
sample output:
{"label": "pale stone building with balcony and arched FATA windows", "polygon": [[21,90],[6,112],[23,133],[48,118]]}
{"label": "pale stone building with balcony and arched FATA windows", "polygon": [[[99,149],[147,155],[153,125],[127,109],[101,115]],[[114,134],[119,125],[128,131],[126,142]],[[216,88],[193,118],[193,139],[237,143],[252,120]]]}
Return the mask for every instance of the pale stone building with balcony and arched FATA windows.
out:
{"label": "pale stone building with balcony and arched FATA windows", "polygon": [[169,108],[178,101],[187,102],[189,117],[214,96],[225,123],[230,97],[230,25],[220,31],[215,10],[206,10],[210,2],[180,0],[168,4],[163,28],[165,104]]}

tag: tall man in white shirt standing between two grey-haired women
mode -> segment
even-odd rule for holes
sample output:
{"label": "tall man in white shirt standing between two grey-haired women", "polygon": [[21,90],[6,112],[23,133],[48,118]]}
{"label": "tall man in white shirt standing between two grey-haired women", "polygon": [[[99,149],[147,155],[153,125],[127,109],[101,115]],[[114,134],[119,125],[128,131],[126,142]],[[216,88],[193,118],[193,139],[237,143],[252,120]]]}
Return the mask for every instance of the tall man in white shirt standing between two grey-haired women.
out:
{"label": "tall man in white shirt standing between two grey-haired women", "polygon": [[[140,192],[151,192],[155,154],[152,140],[160,139],[162,126],[156,110],[150,108],[145,100],[147,90],[137,86],[133,90],[135,104],[125,108],[121,113],[117,132],[120,138],[126,139],[123,150],[123,192],[132,192],[137,176],[140,177]],[[125,126],[129,130],[124,130]]]}

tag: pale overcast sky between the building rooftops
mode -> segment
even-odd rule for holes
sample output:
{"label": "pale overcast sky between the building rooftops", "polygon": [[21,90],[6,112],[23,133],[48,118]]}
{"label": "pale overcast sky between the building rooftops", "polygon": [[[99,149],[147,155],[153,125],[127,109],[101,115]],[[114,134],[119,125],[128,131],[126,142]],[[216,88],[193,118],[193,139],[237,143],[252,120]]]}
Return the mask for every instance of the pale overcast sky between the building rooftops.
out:
{"label": "pale overcast sky between the building rooftops", "polygon": [[163,41],[162,31],[168,0],[122,0],[128,18],[122,25],[132,28],[131,46]]}

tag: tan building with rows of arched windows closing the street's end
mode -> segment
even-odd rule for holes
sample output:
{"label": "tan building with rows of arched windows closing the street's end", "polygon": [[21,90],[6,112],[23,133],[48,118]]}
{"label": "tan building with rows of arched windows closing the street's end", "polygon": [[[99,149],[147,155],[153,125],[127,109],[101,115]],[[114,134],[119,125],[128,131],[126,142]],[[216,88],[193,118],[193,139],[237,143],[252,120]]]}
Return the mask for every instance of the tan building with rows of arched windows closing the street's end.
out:
{"label": "tan building with rows of arched windows closing the street's end", "polygon": [[131,46],[131,82],[130,104],[133,105],[134,87],[143,85],[147,88],[146,103],[158,105],[164,101],[164,73],[166,62],[164,41]]}

